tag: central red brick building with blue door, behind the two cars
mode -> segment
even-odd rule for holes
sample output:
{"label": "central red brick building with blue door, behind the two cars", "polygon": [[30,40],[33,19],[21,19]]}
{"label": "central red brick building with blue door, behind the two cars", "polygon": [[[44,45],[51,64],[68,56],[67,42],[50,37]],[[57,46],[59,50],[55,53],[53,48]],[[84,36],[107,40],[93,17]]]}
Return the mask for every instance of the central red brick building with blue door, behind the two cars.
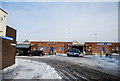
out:
{"label": "central red brick building with blue door, behind the two cars", "polygon": [[31,51],[43,50],[46,54],[52,52],[66,53],[68,49],[72,48],[72,42],[54,42],[54,41],[32,41]]}

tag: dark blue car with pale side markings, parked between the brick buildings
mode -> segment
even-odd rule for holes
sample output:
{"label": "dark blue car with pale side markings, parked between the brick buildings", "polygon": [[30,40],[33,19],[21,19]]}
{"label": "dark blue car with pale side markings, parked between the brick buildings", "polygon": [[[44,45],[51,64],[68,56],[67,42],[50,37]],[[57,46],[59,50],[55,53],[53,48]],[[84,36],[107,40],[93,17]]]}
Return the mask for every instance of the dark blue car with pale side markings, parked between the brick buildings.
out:
{"label": "dark blue car with pale side markings, parked between the brick buildings", "polygon": [[84,54],[79,49],[69,49],[67,51],[67,56],[84,56]]}

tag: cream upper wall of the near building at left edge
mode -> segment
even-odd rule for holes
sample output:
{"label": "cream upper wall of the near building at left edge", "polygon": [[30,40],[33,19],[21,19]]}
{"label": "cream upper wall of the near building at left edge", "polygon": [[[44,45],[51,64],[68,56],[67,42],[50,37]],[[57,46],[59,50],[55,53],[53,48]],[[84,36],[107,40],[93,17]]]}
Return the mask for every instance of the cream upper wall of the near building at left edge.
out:
{"label": "cream upper wall of the near building at left edge", "polygon": [[0,9],[0,37],[6,36],[7,13]]}

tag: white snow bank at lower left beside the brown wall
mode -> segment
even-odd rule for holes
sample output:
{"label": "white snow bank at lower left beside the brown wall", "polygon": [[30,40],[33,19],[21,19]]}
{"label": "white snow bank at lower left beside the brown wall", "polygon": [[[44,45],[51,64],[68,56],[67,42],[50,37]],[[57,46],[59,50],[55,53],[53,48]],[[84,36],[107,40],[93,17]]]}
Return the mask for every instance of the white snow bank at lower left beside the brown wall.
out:
{"label": "white snow bank at lower left beside the brown wall", "polygon": [[16,64],[3,69],[3,79],[61,79],[54,68],[45,63],[16,59]]}

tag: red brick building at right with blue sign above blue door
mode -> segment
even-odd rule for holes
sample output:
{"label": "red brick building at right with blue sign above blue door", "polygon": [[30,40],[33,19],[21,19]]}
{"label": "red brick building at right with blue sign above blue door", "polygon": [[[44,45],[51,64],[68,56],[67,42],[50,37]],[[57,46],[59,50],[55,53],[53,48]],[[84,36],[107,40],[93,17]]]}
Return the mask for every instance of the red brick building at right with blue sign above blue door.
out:
{"label": "red brick building at right with blue sign above blue door", "polygon": [[119,53],[120,43],[118,42],[85,42],[86,54]]}

